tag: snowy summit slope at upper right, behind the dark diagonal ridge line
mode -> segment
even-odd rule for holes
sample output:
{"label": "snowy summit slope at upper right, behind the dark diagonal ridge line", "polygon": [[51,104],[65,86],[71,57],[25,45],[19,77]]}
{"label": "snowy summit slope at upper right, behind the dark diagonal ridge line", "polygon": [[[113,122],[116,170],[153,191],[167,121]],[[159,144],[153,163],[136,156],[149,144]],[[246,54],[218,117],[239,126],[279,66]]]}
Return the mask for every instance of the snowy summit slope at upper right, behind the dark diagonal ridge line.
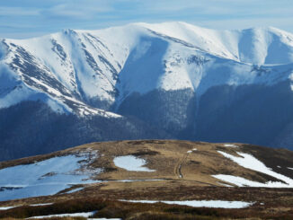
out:
{"label": "snowy summit slope at upper right, behind the dark diagonal ridge line", "polygon": [[[219,57],[253,64],[292,62],[293,35],[276,28],[216,31],[185,22],[140,23],[152,31],[183,40]],[[280,51],[280,57],[276,51]],[[280,62],[280,59],[282,62]]]}

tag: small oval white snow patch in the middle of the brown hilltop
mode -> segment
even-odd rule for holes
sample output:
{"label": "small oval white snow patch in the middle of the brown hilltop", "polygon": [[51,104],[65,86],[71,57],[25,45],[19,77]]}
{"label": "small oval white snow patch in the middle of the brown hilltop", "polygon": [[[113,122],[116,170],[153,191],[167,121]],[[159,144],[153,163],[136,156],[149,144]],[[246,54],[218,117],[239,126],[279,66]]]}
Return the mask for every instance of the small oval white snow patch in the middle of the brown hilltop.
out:
{"label": "small oval white snow patch in the middle of the brown hilltop", "polygon": [[115,163],[115,166],[129,172],[155,172],[155,170],[150,170],[147,167],[144,167],[147,164],[146,160],[132,155],[115,157],[113,162]]}

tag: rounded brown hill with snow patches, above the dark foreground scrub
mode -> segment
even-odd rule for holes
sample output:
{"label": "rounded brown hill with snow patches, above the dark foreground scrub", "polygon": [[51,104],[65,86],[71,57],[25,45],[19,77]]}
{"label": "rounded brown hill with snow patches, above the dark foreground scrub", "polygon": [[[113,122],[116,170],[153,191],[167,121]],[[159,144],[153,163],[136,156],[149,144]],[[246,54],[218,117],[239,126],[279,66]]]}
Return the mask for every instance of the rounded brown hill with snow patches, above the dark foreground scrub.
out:
{"label": "rounded brown hill with snow patches, above the dark foreground scrub", "polygon": [[[81,145],[0,163],[0,199],[54,195],[81,187],[145,184],[293,187],[288,150],[203,142],[142,140]],[[64,176],[65,175],[65,176]],[[71,176],[73,175],[73,176]],[[177,184],[177,183],[176,183]]]}

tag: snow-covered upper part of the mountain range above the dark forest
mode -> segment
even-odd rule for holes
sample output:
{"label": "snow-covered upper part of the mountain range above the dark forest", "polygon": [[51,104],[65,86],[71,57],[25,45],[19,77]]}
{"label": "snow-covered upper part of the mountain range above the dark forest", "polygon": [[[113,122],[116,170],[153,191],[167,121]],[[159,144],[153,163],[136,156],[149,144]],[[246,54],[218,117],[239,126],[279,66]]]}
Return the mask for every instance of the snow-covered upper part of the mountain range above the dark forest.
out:
{"label": "snow-covered upper part of the mountain range above the dark forest", "polygon": [[[119,40],[117,40],[119,39]],[[133,92],[293,80],[293,35],[275,28],[213,31],[184,22],[133,23],[2,40],[0,108],[41,100],[60,113],[105,110]]]}

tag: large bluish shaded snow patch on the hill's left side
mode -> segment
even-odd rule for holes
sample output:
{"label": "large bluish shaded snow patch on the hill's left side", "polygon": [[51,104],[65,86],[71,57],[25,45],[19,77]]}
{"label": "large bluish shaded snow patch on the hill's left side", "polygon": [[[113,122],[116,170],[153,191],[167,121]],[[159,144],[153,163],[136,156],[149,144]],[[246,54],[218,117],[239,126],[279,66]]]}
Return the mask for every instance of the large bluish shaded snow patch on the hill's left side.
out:
{"label": "large bluish shaded snow patch on the hill's left side", "polygon": [[[79,171],[87,156],[67,155],[53,157],[38,163],[18,165],[0,170],[0,187],[14,187],[0,191],[0,200],[54,195],[75,184],[95,182],[90,180],[93,173],[101,169]],[[18,189],[16,189],[16,187]]]}

